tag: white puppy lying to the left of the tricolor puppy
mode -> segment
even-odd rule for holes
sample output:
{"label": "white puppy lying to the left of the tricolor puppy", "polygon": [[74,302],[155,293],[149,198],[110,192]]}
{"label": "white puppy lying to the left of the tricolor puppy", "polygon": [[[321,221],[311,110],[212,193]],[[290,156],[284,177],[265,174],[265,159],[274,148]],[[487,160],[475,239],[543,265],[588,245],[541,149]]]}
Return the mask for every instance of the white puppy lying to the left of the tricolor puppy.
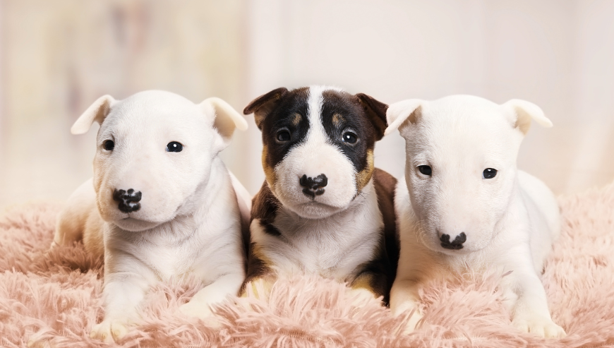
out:
{"label": "white puppy lying to the left of the tricolor puppy", "polygon": [[241,224],[251,202],[218,156],[245,119],[217,98],[194,104],[152,90],[100,97],[71,132],[95,121],[93,181],[68,200],[54,236],[54,245],[83,238],[88,251],[104,253],[104,320],[90,337],[123,337],[152,284],[188,273],[205,287],[180,309],[207,316],[245,278]]}

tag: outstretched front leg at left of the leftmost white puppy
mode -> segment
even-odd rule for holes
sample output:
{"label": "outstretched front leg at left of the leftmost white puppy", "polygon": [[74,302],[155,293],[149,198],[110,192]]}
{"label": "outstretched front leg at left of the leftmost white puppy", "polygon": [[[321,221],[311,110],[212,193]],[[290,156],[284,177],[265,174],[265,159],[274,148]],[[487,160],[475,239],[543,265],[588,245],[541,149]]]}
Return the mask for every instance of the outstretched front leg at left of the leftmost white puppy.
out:
{"label": "outstretched front leg at left of the leftmost white puppy", "polygon": [[137,308],[149,282],[133,272],[116,272],[104,277],[104,320],[92,328],[90,337],[113,343],[128,333],[128,325],[138,320]]}

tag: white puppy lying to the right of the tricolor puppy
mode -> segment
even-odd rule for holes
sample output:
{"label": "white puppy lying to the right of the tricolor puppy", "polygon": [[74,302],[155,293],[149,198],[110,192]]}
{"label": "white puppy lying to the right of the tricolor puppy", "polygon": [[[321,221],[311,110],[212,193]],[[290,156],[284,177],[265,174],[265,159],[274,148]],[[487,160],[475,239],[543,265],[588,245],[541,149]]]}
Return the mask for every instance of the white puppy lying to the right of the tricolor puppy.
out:
{"label": "white puppy lying to the right of the tricolor puppy", "polygon": [[560,233],[552,191],[519,171],[516,158],[531,119],[552,123],[535,104],[495,104],[469,95],[405,100],[387,109],[386,134],[406,141],[405,180],[395,193],[401,251],[390,294],[392,313],[422,315],[421,284],[474,271],[510,272],[500,289],[512,325],[565,337],[550,318],[543,262]]}

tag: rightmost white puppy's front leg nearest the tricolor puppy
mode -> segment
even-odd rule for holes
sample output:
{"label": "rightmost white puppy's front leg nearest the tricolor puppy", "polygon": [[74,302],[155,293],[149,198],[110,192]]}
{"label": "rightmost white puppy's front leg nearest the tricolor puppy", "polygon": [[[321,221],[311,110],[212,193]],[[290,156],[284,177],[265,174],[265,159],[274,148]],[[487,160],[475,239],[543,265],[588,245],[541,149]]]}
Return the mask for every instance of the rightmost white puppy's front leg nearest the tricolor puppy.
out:
{"label": "rightmost white puppy's front leg nearest the tricolor puppy", "polygon": [[419,295],[418,295],[419,282],[416,280],[409,280],[407,278],[395,280],[395,284],[392,284],[390,289],[390,310],[392,316],[400,316],[402,314],[409,314],[409,320],[405,326],[404,334],[414,332],[419,321],[423,315],[419,309]]}

